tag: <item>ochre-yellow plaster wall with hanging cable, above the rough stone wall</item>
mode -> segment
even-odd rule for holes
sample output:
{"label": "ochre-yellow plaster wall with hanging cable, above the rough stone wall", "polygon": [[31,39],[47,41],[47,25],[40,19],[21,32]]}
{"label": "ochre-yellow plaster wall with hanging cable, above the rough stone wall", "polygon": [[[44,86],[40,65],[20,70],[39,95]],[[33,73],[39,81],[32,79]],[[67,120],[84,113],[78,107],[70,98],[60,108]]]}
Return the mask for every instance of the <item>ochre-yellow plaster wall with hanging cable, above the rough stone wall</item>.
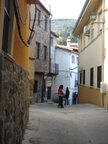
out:
{"label": "ochre-yellow plaster wall with hanging cable, above the rough stone wall", "polygon": [[[23,23],[20,23],[21,34],[24,41],[27,42],[29,37],[29,5],[27,5],[27,0],[19,0],[18,5],[23,21]],[[16,60],[16,63],[27,70],[29,69],[29,47],[25,46],[21,41],[17,25],[15,28],[13,57]]]}

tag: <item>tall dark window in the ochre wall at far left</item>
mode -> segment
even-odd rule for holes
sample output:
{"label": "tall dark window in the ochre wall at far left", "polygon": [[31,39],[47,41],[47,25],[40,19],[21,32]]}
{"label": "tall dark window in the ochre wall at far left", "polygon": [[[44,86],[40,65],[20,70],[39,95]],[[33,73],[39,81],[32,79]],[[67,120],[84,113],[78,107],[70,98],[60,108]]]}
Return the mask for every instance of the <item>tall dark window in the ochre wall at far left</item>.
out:
{"label": "tall dark window in the ochre wall at far left", "polygon": [[10,20],[11,20],[10,19],[10,1],[5,0],[2,49],[6,53],[8,52],[8,38],[9,38]]}

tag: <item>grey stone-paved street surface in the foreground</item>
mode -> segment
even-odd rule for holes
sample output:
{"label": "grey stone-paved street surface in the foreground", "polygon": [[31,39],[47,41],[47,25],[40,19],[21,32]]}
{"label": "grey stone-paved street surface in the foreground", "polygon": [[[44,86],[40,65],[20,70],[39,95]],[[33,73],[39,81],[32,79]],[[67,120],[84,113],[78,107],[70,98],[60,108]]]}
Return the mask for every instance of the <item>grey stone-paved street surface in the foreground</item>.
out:
{"label": "grey stone-paved street surface in the foreground", "polygon": [[32,105],[23,144],[108,144],[108,112],[89,104]]}

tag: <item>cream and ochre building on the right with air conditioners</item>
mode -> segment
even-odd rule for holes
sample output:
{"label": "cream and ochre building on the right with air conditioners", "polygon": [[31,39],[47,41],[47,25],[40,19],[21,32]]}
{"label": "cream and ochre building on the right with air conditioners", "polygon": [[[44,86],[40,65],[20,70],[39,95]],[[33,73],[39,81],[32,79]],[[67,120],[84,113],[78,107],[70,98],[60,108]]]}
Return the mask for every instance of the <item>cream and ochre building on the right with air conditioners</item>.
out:
{"label": "cream and ochre building on the right with air conditioners", "polygon": [[86,0],[73,31],[80,38],[79,101],[105,108],[108,108],[107,8],[107,0]]}

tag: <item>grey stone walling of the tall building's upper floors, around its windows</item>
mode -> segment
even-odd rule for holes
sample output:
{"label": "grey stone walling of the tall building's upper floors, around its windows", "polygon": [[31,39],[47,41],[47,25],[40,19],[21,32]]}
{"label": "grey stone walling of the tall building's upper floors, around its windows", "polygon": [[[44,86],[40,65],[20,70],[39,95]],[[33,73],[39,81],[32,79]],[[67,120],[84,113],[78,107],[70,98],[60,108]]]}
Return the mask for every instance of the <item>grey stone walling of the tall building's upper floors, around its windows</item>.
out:
{"label": "grey stone walling of the tall building's upper floors, around its windows", "polygon": [[[35,48],[35,72],[49,72],[49,51],[50,51],[50,16],[49,14],[37,4],[37,9],[41,11],[41,21],[40,25],[36,23],[35,27],[35,41],[34,41],[34,48]],[[47,30],[45,30],[45,16],[47,16]],[[36,42],[40,43],[40,52],[39,52],[39,59],[37,58],[37,48]],[[45,49],[44,46],[47,47],[47,55],[46,60],[44,59]]]}

